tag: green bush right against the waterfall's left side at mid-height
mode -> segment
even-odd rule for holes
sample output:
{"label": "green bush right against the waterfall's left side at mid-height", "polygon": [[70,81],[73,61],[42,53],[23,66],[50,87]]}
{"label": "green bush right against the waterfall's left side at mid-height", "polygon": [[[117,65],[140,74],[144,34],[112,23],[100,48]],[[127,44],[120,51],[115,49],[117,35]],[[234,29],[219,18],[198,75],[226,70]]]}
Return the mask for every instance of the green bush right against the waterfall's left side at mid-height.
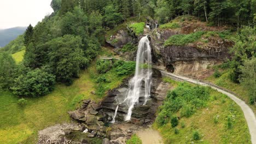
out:
{"label": "green bush right against the waterfall's left side at mid-height", "polygon": [[134,73],[136,63],[135,62],[124,62],[117,61],[114,63],[115,71],[118,75],[130,75]]}

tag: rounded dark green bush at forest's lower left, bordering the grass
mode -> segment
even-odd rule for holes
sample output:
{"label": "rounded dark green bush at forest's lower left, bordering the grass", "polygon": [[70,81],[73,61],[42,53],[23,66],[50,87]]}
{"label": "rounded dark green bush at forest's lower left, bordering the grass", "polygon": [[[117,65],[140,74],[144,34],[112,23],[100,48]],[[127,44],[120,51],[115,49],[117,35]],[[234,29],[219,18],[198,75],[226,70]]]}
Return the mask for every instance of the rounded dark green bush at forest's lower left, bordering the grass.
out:
{"label": "rounded dark green bush at forest's lower left, bordering the grass", "polygon": [[28,71],[14,80],[13,93],[25,97],[39,97],[53,91],[55,76],[41,69]]}

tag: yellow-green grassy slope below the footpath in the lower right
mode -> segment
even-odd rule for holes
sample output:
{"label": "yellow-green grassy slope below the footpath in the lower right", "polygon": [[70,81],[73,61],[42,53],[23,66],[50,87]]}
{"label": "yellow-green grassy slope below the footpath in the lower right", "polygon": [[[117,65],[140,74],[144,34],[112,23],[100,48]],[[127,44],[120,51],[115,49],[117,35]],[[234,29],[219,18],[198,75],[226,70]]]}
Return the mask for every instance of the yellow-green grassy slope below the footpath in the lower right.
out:
{"label": "yellow-green grassy slope below the footpath in the lower right", "polygon": [[[179,91],[179,94],[185,94],[192,90],[182,88]],[[206,105],[197,108],[193,115],[182,117],[181,110],[172,115],[180,117],[177,127],[172,128],[170,120],[162,126],[157,122],[153,125],[160,131],[165,143],[251,143],[240,107],[213,89],[210,89]],[[231,129],[228,128],[228,117],[231,117]],[[195,131],[199,133],[200,140],[193,140]]]}

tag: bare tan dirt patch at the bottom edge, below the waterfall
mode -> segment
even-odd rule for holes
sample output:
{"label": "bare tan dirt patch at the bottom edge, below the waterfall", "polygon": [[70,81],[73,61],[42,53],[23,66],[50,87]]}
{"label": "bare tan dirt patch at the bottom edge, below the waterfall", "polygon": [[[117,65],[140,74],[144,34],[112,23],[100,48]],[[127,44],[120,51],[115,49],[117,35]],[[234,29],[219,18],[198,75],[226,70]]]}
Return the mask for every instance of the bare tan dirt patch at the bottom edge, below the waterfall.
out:
{"label": "bare tan dirt patch at the bottom edge, below the waterfall", "polygon": [[162,144],[162,137],[157,130],[152,128],[142,129],[136,133],[142,144]]}

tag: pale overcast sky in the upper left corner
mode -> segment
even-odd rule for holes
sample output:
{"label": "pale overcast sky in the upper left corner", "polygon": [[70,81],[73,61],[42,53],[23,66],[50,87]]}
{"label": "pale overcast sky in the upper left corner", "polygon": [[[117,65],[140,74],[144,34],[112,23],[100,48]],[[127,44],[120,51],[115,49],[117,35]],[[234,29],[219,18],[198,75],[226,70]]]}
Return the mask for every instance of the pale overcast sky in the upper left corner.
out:
{"label": "pale overcast sky in the upper left corner", "polygon": [[51,0],[0,0],[0,29],[35,26],[51,14]]}

